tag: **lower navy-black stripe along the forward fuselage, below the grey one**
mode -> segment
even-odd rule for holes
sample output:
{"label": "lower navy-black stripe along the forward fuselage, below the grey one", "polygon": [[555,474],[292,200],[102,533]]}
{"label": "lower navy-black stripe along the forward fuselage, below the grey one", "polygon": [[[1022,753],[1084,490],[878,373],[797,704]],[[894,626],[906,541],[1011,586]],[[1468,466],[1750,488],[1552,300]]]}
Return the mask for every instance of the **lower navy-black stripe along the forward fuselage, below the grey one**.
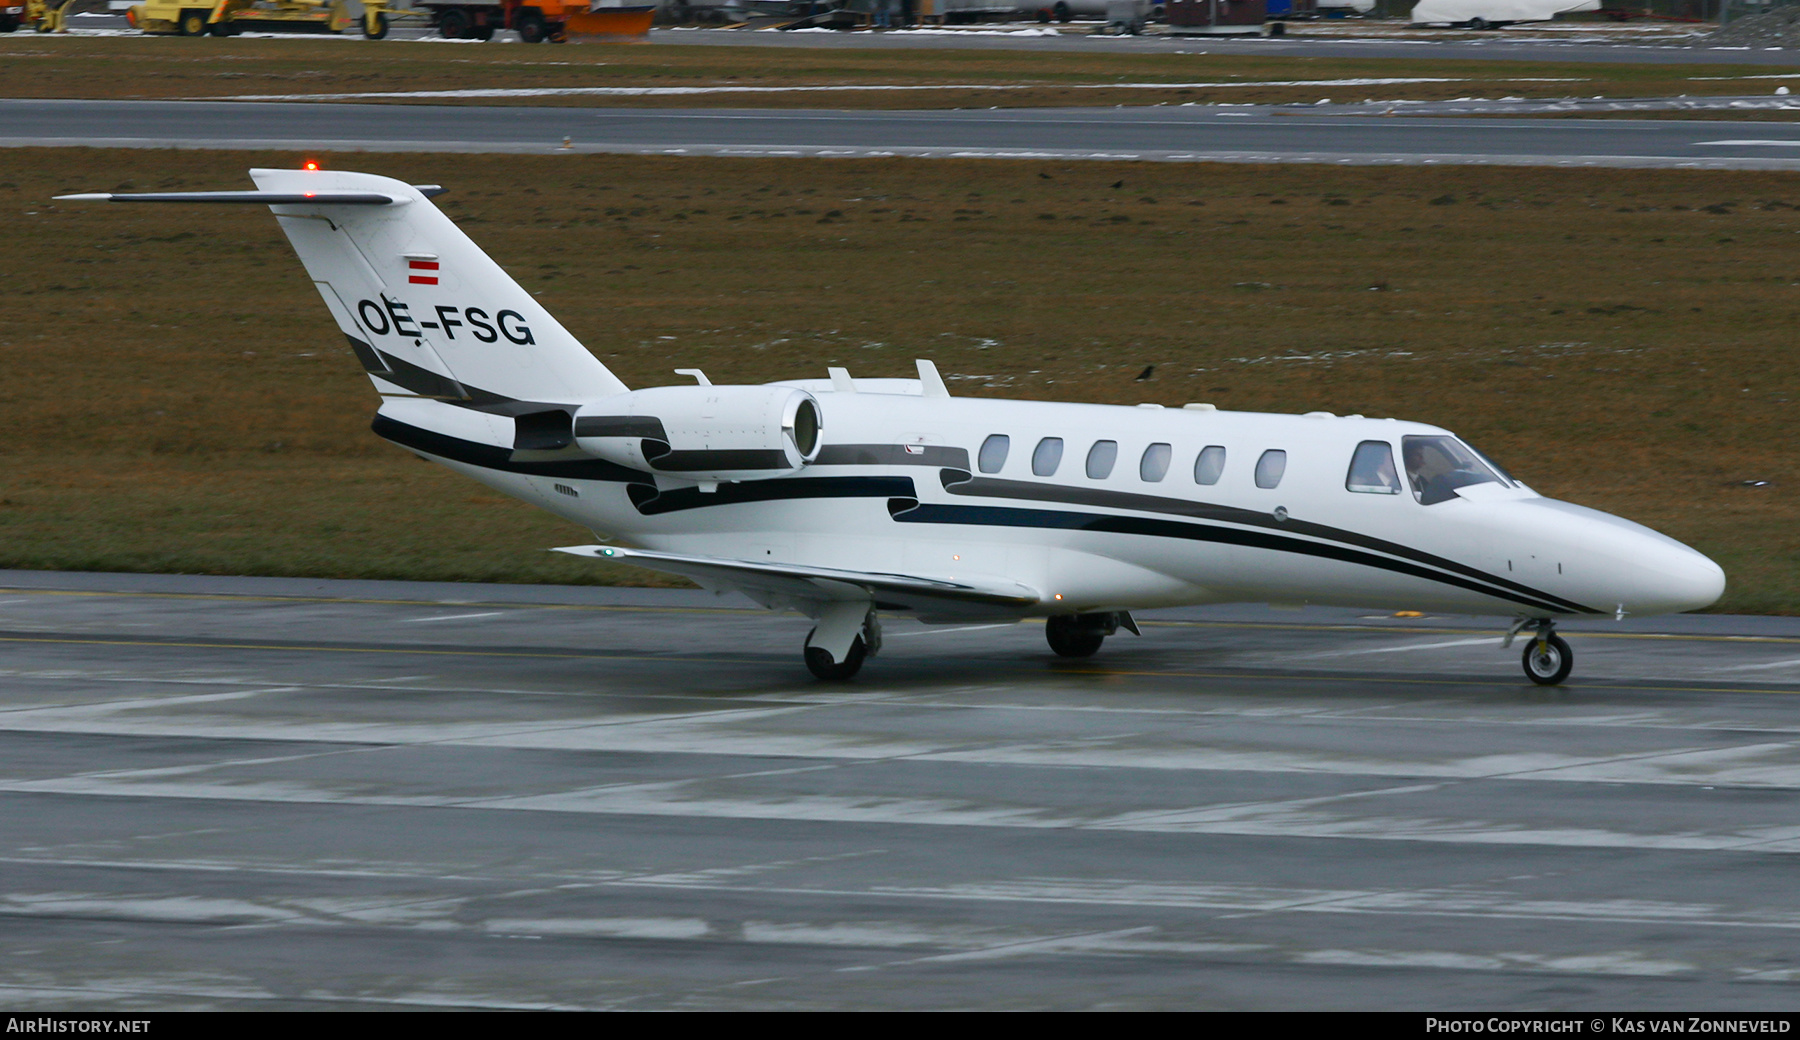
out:
{"label": "lower navy-black stripe along the forward fuselage, below the grey one", "polygon": [[1242,527],[1215,527],[1211,524],[1183,524],[1179,520],[1154,520],[1148,516],[1109,516],[1103,513],[1071,513],[1067,509],[1019,509],[1013,506],[922,506],[913,498],[902,498],[891,502],[889,513],[900,524],[1048,527],[1057,531],[1094,531],[1100,534],[1143,534],[1148,538],[1183,538],[1186,542],[1242,545],[1246,549],[1267,549],[1271,552],[1296,552],[1301,556],[1318,556],[1321,560],[1337,560],[1343,563],[1373,567],[1377,570],[1391,570],[1395,574],[1406,574],[1411,578],[1424,578],[1426,581],[1436,581],[1440,585],[1467,588],[1471,592],[1480,592],[1481,596],[1492,596],[1494,599],[1510,599],[1514,603],[1530,606],[1534,610],[1548,610],[1552,614],[1598,614],[1597,610],[1579,605],[1557,606],[1555,603],[1548,601],[1550,597],[1539,597],[1539,594],[1525,594],[1525,592],[1496,588],[1489,583],[1472,578],[1463,578],[1460,574],[1444,574],[1442,570],[1433,570],[1418,563],[1408,563],[1404,560],[1390,560],[1386,556],[1377,556],[1373,552],[1364,552],[1361,549],[1352,549],[1348,545],[1337,545],[1330,542],[1307,542],[1303,538],[1289,538],[1285,534],[1274,534],[1269,531],[1246,531]]}

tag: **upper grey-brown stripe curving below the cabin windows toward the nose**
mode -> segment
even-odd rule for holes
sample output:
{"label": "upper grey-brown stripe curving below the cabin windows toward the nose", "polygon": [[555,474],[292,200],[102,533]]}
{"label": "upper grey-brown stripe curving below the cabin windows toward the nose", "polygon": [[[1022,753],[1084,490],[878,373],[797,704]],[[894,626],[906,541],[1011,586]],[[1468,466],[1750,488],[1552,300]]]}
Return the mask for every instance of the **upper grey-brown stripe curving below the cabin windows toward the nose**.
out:
{"label": "upper grey-brown stripe curving below the cabin windows toward the nose", "polygon": [[1102,488],[1069,488],[1066,484],[1033,484],[1030,480],[999,480],[994,477],[974,477],[967,471],[945,470],[940,473],[943,489],[950,495],[968,495],[981,498],[1017,498],[1028,502],[1066,502],[1071,506],[1100,506],[1107,509],[1130,509],[1136,513],[1161,513],[1166,516],[1192,516],[1195,520],[1217,520],[1224,524],[1242,524],[1246,527],[1260,527],[1265,531],[1276,531],[1283,536],[1287,534],[1305,534],[1309,538],[1319,538],[1325,542],[1334,542],[1339,545],[1355,545],[1361,549],[1370,549],[1373,552],[1386,552],[1390,556],[1400,556],[1402,560],[1411,560],[1413,563],[1422,563],[1426,567],[1436,567],[1449,570],[1462,578],[1472,578],[1476,581],[1485,581],[1498,588],[1507,590],[1507,599],[1517,599],[1526,596],[1537,599],[1543,605],[1555,606],[1561,614],[1604,614],[1591,606],[1584,606],[1571,599],[1562,599],[1541,588],[1532,588],[1510,578],[1501,578],[1498,574],[1489,574],[1481,569],[1469,567],[1456,560],[1447,560],[1426,552],[1422,549],[1413,549],[1411,545],[1402,545],[1399,542],[1388,542],[1386,538],[1375,538],[1372,534],[1363,534],[1357,531],[1345,531],[1343,527],[1332,527],[1328,524],[1316,524],[1312,520],[1276,520],[1273,513],[1264,513],[1260,509],[1244,509],[1240,506],[1219,506],[1213,502],[1190,502],[1184,498],[1165,498],[1159,495],[1132,495],[1129,491],[1107,491]]}

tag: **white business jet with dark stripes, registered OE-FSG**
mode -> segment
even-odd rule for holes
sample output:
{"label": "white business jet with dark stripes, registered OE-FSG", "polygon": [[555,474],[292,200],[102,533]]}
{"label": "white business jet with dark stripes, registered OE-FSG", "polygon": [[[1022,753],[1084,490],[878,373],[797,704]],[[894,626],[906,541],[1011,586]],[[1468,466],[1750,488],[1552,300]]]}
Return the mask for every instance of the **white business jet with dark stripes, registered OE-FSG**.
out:
{"label": "white business jet with dark stripes, registered OE-FSG", "polygon": [[878,615],[1044,617],[1087,657],[1130,612],[1321,603],[1501,614],[1562,682],[1559,617],[1667,614],[1724,572],[1649,527],[1544,498],[1449,430],[1363,416],[952,398],[918,380],[632,390],[436,205],[436,185],[252,169],[257,191],[68,200],[263,203],[382,407],[374,432],[581,524],[563,547],[815,619],[848,678]]}

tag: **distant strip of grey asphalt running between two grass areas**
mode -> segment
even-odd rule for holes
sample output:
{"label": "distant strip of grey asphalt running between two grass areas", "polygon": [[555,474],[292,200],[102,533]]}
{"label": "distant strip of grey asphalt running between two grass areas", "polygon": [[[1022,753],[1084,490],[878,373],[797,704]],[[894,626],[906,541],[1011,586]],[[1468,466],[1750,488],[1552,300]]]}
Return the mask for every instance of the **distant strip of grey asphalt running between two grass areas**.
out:
{"label": "distant strip of grey asphalt running between two grass areas", "polygon": [[1795,122],[1397,119],[1199,106],[796,112],[0,101],[0,146],[1800,167]]}

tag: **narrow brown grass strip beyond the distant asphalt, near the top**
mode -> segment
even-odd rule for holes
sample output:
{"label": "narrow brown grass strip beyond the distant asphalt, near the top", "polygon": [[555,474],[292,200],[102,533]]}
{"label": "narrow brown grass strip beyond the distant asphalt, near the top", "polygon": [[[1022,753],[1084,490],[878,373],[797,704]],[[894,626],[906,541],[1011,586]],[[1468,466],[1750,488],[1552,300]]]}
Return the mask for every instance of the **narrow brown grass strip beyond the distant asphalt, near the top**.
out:
{"label": "narrow brown grass strip beyond the distant asphalt, near the top", "polygon": [[[310,97],[418,90],[680,86],[758,90],[682,95],[538,95],[508,99],[506,104],[986,108],[1314,103],[1321,97],[1431,101],[1597,94],[1606,97],[1771,94],[1780,81],[1769,76],[1771,70],[1762,65],[599,43],[509,47],[335,38],[47,38],[20,32],[0,36],[0,97]],[[1433,83],[1354,83],[1361,79],[1433,79]],[[1170,86],[1123,88],[1121,83]],[[1793,83],[1800,83],[1800,74]],[[907,90],[832,90],[846,85]],[[824,90],[769,90],[796,86]],[[418,101],[493,104],[491,99]]]}

